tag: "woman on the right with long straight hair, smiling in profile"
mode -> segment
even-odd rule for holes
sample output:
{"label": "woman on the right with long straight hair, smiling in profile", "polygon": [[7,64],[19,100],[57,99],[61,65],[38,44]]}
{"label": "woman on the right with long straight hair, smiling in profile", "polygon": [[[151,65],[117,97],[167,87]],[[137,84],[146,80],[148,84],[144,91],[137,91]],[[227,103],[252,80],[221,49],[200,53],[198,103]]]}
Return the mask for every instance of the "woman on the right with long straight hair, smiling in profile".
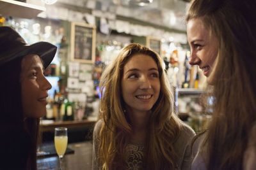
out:
{"label": "woman on the right with long straight hair, smiling in profile", "polygon": [[189,63],[204,71],[214,99],[192,169],[256,169],[255,9],[254,0],[194,0],[189,8]]}

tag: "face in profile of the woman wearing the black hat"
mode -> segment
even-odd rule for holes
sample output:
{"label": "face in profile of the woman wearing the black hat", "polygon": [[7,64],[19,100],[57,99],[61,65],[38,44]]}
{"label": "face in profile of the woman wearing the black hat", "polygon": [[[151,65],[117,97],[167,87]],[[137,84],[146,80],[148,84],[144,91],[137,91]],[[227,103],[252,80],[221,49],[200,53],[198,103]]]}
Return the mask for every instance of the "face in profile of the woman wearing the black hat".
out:
{"label": "face in profile of the woman wearing the black hat", "polygon": [[46,114],[47,90],[52,86],[44,76],[44,66],[38,55],[22,59],[21,99],[24,117],[39,118]]}

